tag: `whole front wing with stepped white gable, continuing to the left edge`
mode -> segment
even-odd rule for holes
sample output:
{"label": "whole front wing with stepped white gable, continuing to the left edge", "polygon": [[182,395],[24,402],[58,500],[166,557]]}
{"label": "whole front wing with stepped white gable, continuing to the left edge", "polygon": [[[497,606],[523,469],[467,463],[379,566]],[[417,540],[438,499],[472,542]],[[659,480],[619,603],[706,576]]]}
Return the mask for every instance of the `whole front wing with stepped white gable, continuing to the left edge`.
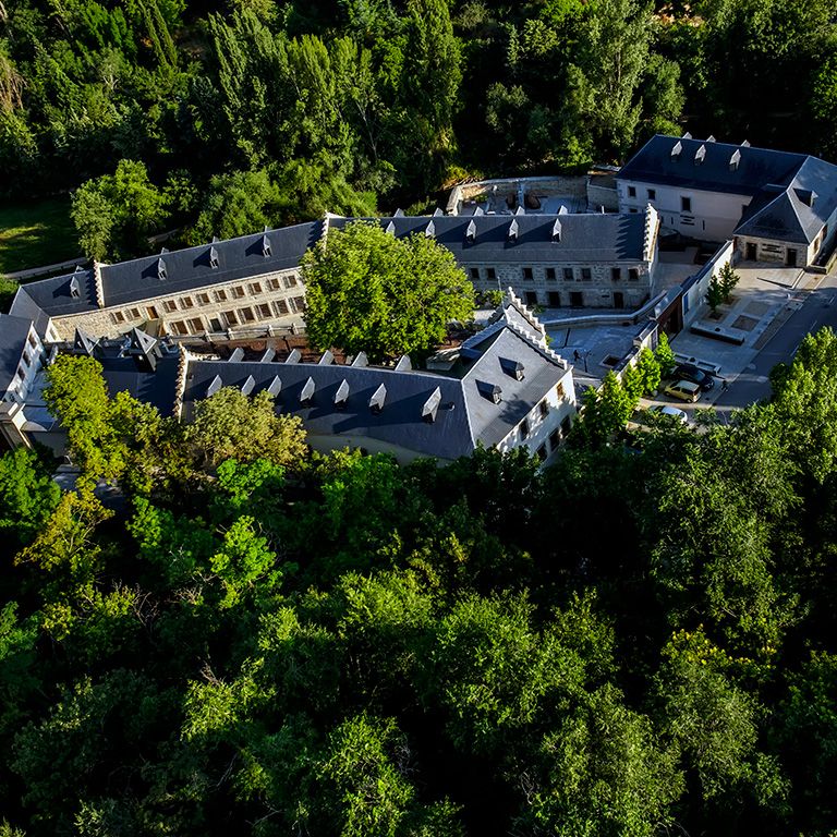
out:
{"label": "whole front wing with stepped white gable, continuing to the left edge", "polygon": [[[31,332],[19,331],[0,333],[9,357],[27,351]],[[547,347],[543,326],[511,292],[484,330],[427,371],[413,369],[407,357],[395,367],[369,366],[362,354],[338,364],[330,352],[317,363],[272,350],[260,360],[245,360],[242,350],[220,360],[136,328],[104,339],[76,331],[57,351],[96,357],[111,396],[128,391],[162,415],[189,420],[195,402],[221,387],[267,390],[278,411],[302,418],[312,447],[386,451],[402,462],[420,456],[447,462],[477,445],[525,447],[546,460],[575,415],[571,366]],[[9,445],[38,440],[61,452],[65,439],[46,410],[44,385],[40,366],[25,387],[10,379],[0,393],[8,407],[0,432]]]}

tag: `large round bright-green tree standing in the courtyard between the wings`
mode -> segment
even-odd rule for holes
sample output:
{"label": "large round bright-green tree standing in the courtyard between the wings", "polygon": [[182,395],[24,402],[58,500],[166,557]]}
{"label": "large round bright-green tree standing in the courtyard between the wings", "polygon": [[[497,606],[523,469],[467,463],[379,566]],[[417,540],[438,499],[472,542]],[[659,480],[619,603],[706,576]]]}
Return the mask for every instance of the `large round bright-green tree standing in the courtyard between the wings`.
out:
{"label": "large round bright-green tree standing in the courtyard between the wings", "polygon": [[451,320],[468,320],[474,290],[434,239],[396,239],[355,221],[332,230],[302,262],[305,323],[319,349],[338,345],[374,361],[425,352]]}

